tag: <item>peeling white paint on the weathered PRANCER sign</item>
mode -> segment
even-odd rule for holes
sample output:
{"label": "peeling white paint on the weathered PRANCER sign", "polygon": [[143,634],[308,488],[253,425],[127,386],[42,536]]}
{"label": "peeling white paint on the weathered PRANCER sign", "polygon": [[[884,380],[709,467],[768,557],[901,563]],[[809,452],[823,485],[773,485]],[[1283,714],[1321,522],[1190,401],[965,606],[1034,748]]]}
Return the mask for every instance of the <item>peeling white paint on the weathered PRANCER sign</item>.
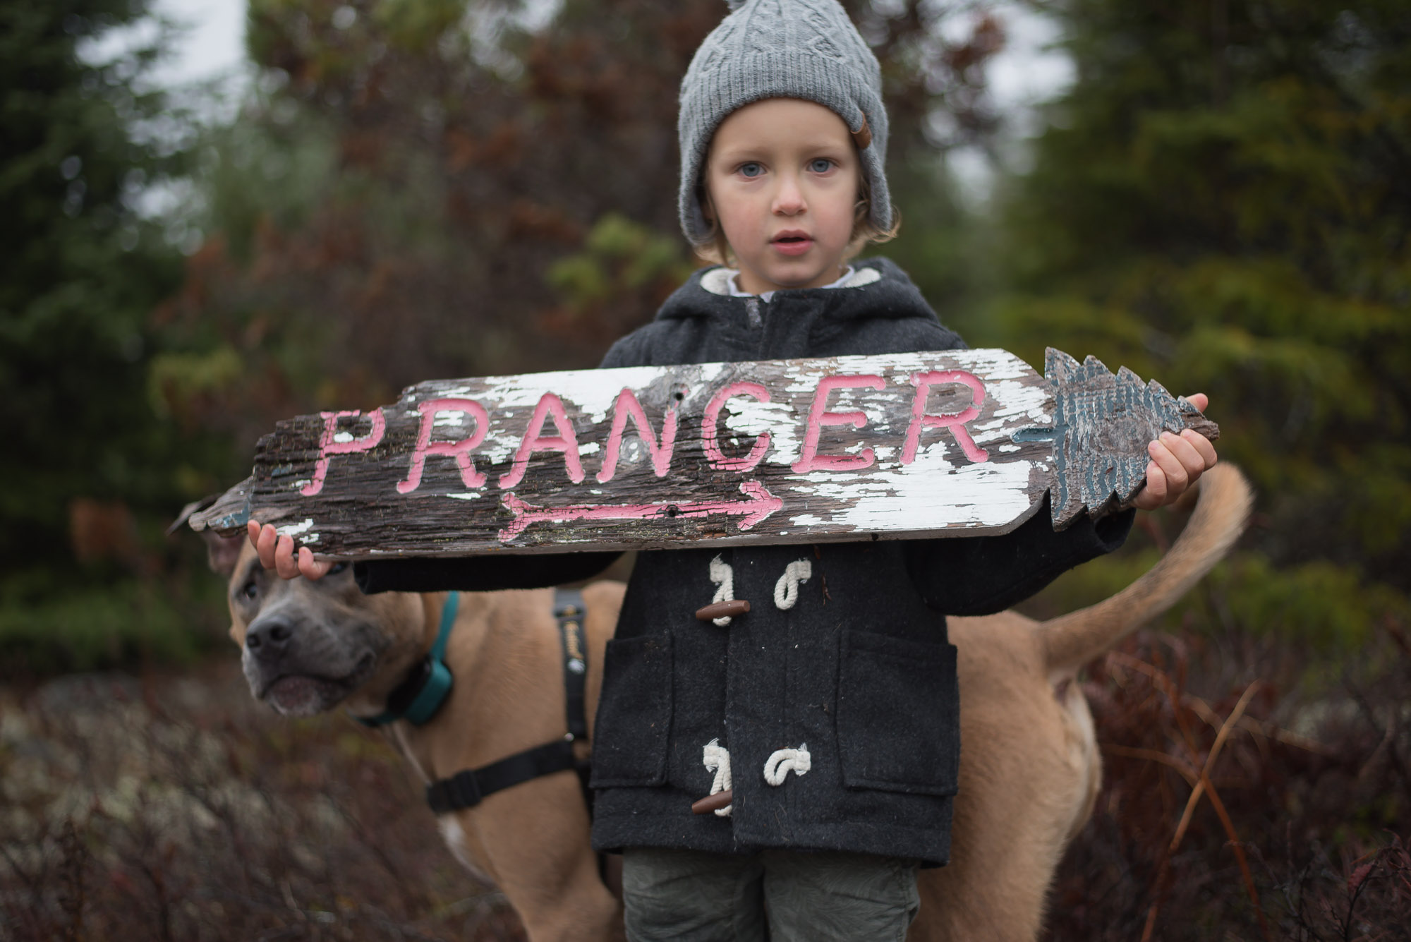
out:
{"label": "peeling white paint on the weathered PRANCER sign", "polygon": [[[794,361],[799,362],[799,361]],[[974,463],[957,441],[955,430],[923,427],[919,433],[916,457],[902,464],[912,423],[912,402],[916,388],[912,377],[935,369],[967,369],[985,381],[985,402],[981,416],[965,424],[975,447],[986,450],[989,461]],[[768,379],[761,377],[768,375]],[[862,470],[818,470],[794,474],[792,465],[803,454],[810,405],[818,381],[825,375],[879,375],[882,389],[841,388],[830,393],[827,412],[861,412],[866,423],[861,429],[851,424],[828,424],[821,430],[817,454],[859,455],[872,448],[873,463]],[[883,357],[837,357],[807,361],[806,369],[786,364],[697,364],[683,367],[634,367],[625,369],[566,371],[529,377],[490,377],[450,382],[420,384],[404,393],[402,409],[388,409],[389,417],[399,415],[402,429],[416,423],[420,415],[415,402],[432,398],[466,398],[484,405],[490,412],[490,427],[484,440],[470,453],[477,472],[487,482],[477,491],[439,491],[460,484],[454,477],[454,463],[446,455],[429,460],[426,474],[418,488],[422,495],[447,496],[456,501],[484,501],[495,508],[467,508],[466,539],[488,540],[488,533],[505,526],[501,512],[499,478],[511,471],[528,423],[546,391],[553,391],[563,402],[574,424],[583,481],[567,478],[566,460],[553,450],[536,451],[528,475],[515,485],[516,495],[533,506],[556,508],[581,503],[626,503],[636,501],[700,501],[703,498],[738,501],[737,487],[745,481],[763,484],[782,506],[756,533],[792,537],[794,540],[818,536],[842,536],[858,532],[917,533],[944,529],[996,530],[1031,509],[1031,481],[1053,474],[1053,463],[1041,444],[1020,446],[1012,440],[1017,429],[1051,424],[1050,388],[1034,382],[1034,371],[1013,354],[1002,350],[948,351],[943,354],[893,354]],[[698,416],[715,391],[742,379],[765,382],[770,402],[741,395],[725,402],[721,409],[721,448],[727,455],[744,455],[758,436],[768,434],[770,444],[762,464],[748,474],[728,472],[696,478],[704,464],[703,444],[697,432]],[[622,389],[632,389],[643,405],[650,434],[660,436],[665,419],[663,403],[672,405],[673,388],[682,395],[676,400],[680,413],[690,419],[679,434],[672,468],[682,477],[652,477],[650,455],[643,441],[645,430],[626,422],[618,453],[614,487],[598,487],[595,475],[602,468],[602,453],[614,420],[614,409]],[[930,415],[959,410],[972,402],[965,386],[933,386],[927,400]],[[405,409],[412,405],[413,408]],[[474,420],[459,410],[442,409],[433,416],[433,427],[443,430],[439,441],[464,439],[474,430]],[[689,429],[689,432],[687,432]],[[478,430],[476,430],[478,433]],[[552,417],[536,430],[542,437],[557,436]],[[391,429],[389,429],[391,433]],[[399,433],[405,439],[405,432]],[[351,443],[356,436],[340,432],[336,441]],[[408,446],[399,446],[408,447]],[[1016,460],[1015,455],[1023,453]],[[996,460],[1002,458],[1003,460]],[[363,458],[358,458],[363,461]],[[349,461],[333,455],[330,477]],[[389,464],[405,474],[409,458],[405,451]],[[302,472],[303,468],[299,468]],[[378,471],[378,474],[382,474]],[[629,481],[624,481],[631,478]],[[452,484],[454,481],[454,484]],[[653,481],[656,481],[653,484]],[[619,484],[629,487],[618,488]],[[303,488],[301,479],[293,487]],[[684,485],[684,488],[683,488]],[[674,489],[673,489],[674,488]],[[391,491],[391,485],[388,487]],[[411,506],[399,502],[395,492],[387,498],[388,508]],[[626,518],[624,518],[626,519]],[[642,519],[639,515],[636,519]],[[713,518],[724,519],[724,518]],[[552,525],[555,544],[587,544],[601,542],[615,527],[607,516],[598,522]],[[313,520],[288,525],[281,533],[305,533]],[[550,525],[535,523],[526,533],[538,543]],[[641,532],[641,523],[636,530]],[[663,530],[665,532],[665,530]],[[710,530],[707,530],[710,532]],[[753,534],[742,537],[752,539]],[[639,537],[638,537],[639,539]],[[713,539],[739,542],[731,529]],[[305,542],[309,542],[305,539]],[[337,543],[337,540],[334,540]]]}

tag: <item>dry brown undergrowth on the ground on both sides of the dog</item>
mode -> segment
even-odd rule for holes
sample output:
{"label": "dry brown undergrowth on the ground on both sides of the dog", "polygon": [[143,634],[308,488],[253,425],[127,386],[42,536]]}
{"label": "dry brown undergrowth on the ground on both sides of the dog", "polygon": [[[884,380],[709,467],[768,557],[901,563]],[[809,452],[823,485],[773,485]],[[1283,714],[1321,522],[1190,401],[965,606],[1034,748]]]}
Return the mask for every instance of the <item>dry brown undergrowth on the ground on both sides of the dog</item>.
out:
{"label": "dry brown undergrowth on the ground on both sides of the dog", "polygon": [[[1091,671],[1106,781],[1047,939],[1411,939],[1411,646],[1309,660],[1147,633]],[[523,938],[380,735],[231,660],[0,688],[0,939]]]}

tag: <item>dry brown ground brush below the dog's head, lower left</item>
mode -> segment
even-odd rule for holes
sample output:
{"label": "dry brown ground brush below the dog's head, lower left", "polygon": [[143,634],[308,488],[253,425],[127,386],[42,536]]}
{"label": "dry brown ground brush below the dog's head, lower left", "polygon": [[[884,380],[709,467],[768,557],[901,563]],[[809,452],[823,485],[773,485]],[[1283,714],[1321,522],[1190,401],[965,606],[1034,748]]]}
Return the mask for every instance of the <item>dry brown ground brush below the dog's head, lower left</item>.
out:
{"label": "dry brown ground brush below the dog's head, lower left", "polygon": [[281,719],[229,660],[0,711],[0,938],[523,938],[380,735]]}

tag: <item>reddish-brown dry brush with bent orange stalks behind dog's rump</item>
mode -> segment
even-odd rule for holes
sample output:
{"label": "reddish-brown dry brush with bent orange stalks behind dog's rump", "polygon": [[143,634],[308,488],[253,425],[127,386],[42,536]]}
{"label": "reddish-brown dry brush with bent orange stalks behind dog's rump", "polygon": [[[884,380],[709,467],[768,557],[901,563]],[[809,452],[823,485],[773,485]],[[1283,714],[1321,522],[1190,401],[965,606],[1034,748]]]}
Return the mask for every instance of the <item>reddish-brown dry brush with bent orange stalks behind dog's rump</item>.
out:
{"label": "reddish-brown dry brush with bent orange stalks behind dog's rump", "polygon": [[1316,699],[1260,677],[1302,657],[1237,635],[1109,654],[1103,791],[1047,938],[1411,939],[1411,650],[1377,640]]}

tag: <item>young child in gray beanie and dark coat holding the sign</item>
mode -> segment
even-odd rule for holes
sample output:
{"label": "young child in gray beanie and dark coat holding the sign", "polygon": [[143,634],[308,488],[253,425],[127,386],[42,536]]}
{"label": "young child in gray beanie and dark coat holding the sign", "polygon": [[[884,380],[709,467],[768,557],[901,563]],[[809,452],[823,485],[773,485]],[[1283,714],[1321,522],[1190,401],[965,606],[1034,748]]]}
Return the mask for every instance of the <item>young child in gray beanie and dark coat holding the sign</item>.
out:
{"label": "young child in gray beanie and dark coat holding the sign", "polygon": [[[697,272],[604,367],[955,350],[907,276],[848,259],[893,230],[878,62],[835,0],[746,0],[682,83],[680,217],[734,268]],[[1192,396],[1204,409],[1204,396]],[[1209,441],[1150,446],[1139,506]],[[950,853],[959,763],[945,615],[1000,611],[1125,540],[1132,513],[1054,533],[641,553],[608,644],[593,839],[624,852],[632,939],[903,939],[917,864]],[[265,565],[322,575],[251,525]],[[611,556],[358,564],[364,591],[549,585]],[[752,609],[717,623],[725,595]],[[728,622],[728,623],[720,623]],[[691,804],[732,788],[728,808]]]}

